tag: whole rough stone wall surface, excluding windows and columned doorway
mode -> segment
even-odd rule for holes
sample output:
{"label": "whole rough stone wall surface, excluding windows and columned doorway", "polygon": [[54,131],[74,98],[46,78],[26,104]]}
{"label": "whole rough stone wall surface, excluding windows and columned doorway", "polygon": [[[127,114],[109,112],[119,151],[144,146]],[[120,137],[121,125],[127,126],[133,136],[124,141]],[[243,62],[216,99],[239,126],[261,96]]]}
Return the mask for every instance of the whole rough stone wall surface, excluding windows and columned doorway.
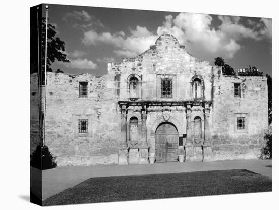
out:
{"label": "whole rough stone wall surface, excluding windows and columned doorway", "polygon": [[[180,46],[173,36],[158,38],[154,46],[135,58],[109,63],[108,74],[68,75],[48,73],[45,144],[57,157],[58,166],[117,164],[121,141],[121,112],[118,102],[130,101],[128,78],[140,79],[138,101],[193,101],[191,79],[202,77],[203,98],[213,102],[210,111],[213,160],[257,158],[268,129],[267,81],[265,77],[223,76],[221,69],[199,61]],[[160,79],[173,79],[173,97],[161,98]],[[88,97],[79,98],[79,82],[88,82]],[[233,83],[241,83],[241,98],[234,97]],[[36,92],[37,91],[37,92]],[[185,107],[169,103],[152,105],[147,115],[147,142],[154,152],[154,132],[163,119],[162,109],[171,110],[173,122],[185,144]],[[128,107],[141,125],[141,106]],[[38,145],[37,74],[31,75],[31,151]],[[245,132],[235,130],[237,116],[247,118]],[[88,119],[88,133],[78,133],[78,120]],[[157,124],[156,124],[157,123]],[[129,124],[127,124],[129,125]],[[129,128],[127,127],[129,140]],[[128,142],[129,144],[129,142]]]}

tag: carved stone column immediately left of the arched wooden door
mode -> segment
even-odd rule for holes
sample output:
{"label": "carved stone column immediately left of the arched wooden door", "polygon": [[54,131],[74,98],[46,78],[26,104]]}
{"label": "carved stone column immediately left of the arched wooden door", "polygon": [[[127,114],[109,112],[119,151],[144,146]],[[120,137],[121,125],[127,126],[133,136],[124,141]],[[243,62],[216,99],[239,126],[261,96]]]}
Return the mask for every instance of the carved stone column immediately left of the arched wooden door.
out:
{"label": "carved stone column immediately left of the arched wooden door", "polygon": [[138,148],[140,148],[140,164],[148,163],[148,144],[147,144],[147,129],[146,129],[146,118],[147,118],[147,110],[142,110],[142,135],[141,140],[138,144]]}

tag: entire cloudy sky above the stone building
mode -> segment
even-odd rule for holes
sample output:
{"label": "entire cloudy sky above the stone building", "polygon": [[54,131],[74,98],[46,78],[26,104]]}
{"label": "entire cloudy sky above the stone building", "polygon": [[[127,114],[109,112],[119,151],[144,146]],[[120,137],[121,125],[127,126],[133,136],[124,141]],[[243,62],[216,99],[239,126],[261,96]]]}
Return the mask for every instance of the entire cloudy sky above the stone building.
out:
{"label": "entire cloudy sky above the stone building", "polygon": [[171,33],[190,54],[211,64],[223,57],[235,70],[251,65],[271,75],[268,18],[49,5],[49,23],[71,60],[56,61],[54,71],[106,74],[108,62],[141,54],[158,36]]}

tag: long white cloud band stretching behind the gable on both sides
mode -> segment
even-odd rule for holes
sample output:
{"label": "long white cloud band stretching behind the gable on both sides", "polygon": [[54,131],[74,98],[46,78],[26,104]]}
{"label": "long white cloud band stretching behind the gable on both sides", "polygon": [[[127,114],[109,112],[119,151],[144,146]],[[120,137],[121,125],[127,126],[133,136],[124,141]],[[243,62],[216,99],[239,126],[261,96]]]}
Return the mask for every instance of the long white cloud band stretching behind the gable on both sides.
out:
{"label": "long white cloud band stretching behind the gable on both sides", "polygon": [[[221,24],[217,29],[212,27],[212,16],[207,14],[180,13],[175,18],[168,15],[162,26],[155,33],[146,27],[136,26],[127,36],[123,31],[98,33],[91,29],[84,32],[82,42],[85,45],[109,44],[115,47],[118,56],[134,57],[153,45],[158,36],[170,33],[181,45],[197,57],[207,58],[208,55],[232,58],[241,49],[239,41],[253,39],[259,41],[271,38],[271,19],[261,19],[261,29],[246,27],[241,17],[218,16]],[[248,21],[248,24],[255,24]]]}

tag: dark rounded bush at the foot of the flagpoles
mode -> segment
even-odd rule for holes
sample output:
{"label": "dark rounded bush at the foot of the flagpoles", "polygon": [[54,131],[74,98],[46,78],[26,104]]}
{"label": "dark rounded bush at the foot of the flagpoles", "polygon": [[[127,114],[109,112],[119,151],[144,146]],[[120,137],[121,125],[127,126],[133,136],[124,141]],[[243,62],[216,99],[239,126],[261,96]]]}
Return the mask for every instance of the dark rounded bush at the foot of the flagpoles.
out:
{"label": "dark rounded bush at the foot of the flagpoles", "polygon": [[55,168],[57,166],[55,159],[47,146],[38,145],[31,155],[31,166],[40,170]]}

